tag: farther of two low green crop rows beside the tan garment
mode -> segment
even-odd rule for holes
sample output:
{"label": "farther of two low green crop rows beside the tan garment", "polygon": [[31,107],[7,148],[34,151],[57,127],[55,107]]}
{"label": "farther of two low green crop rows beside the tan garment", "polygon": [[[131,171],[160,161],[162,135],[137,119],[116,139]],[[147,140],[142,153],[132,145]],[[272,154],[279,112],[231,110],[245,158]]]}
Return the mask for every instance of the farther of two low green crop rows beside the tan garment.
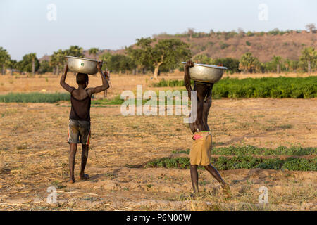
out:
{"label": "farther of two low green crop rows beside the tan garment", "polygon": [[[173,151],[173,153],[189,154],[189,149],[181,151]],[[255,146],[229,146],[213,148],[213,155],[316,155],[317,148],[302,148],[293,146],[287,148],[280,146],[278,148],[259,148]]]}

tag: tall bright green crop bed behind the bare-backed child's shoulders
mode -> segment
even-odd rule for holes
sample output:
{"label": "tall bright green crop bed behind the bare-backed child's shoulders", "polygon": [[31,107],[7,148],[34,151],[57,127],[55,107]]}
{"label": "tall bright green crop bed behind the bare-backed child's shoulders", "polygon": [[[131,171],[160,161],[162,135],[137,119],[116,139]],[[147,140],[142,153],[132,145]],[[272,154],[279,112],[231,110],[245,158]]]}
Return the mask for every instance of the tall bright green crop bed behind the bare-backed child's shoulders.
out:
{"label": "tall bright green crop bed behind the bare-backed child's shoulders", "polygon": [[[154,84],[184,86],[182,80],[164,80]],[[263,77],[220,79],[213,86],[214,98],[315,98],[317,77]]]}

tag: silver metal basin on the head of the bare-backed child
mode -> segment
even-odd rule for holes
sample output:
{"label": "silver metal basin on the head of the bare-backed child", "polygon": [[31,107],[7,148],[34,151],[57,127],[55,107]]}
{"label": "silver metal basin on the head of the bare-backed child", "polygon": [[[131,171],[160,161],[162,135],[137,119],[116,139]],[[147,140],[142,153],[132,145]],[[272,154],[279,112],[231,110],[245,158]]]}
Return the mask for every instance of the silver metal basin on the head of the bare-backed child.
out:
{"label": "silver metal basin on the head of the bare-backed child", "polygon": [[[182,64],[186,63],[182,62]],[[197,82],[216,83],[227,69],[224,66],[194,63],[194,66],[189,68],[189,76]]]}

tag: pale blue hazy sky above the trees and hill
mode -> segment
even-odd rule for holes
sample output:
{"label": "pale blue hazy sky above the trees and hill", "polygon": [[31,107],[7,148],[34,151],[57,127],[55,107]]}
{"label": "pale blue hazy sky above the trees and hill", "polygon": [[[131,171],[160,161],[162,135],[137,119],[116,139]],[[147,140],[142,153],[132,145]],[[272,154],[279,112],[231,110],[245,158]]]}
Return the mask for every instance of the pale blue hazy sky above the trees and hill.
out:
{"label": "pale blue hazy sky above the trees and hill", "polygon": [[20,60],[70,45],[120,49],[140,37],[188,27],[197,32],[304,30],[307,23],[317,25],[316,11],[315,0],[0,0],[0,46]]}

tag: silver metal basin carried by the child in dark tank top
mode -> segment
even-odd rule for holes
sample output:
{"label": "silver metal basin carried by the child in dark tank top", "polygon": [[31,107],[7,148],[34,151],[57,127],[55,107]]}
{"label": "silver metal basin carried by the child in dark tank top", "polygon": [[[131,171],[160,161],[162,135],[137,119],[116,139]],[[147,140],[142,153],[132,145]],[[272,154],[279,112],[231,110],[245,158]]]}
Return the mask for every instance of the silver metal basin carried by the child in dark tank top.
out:
{"label": "silver metal basin carried by the child in dark tank top", "polygon": [[97,60],[73,56],[66,56],[66,58],[68,68],[73,72],[82,72],[88,75],[94,75],[98,72]]}

